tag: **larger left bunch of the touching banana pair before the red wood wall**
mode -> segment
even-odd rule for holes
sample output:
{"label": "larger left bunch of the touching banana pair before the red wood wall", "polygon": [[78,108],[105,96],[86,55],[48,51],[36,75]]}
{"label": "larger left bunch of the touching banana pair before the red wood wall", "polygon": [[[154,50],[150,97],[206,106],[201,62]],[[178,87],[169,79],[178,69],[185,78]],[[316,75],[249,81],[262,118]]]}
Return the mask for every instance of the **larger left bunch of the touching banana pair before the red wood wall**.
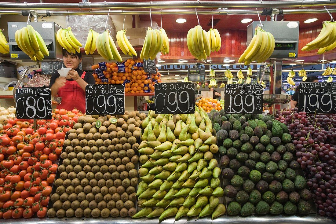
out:
{"label": "larger left bunch of the touching banana pair before the red wood wall", "polygon": [[206,60],[210,56],[210,41],[200,25],[188,31],[187,45],[190,53],[200,61]]}

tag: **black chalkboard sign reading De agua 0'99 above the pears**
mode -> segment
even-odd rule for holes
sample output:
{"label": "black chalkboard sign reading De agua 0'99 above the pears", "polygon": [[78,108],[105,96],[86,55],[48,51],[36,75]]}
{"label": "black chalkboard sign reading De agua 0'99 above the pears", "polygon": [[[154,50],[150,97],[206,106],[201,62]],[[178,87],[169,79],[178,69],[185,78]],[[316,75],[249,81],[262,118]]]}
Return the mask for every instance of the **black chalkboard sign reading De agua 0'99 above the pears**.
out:
{"label": "black chalkboard sign reading De agua 0'99 above the pears", "polygon": [[155,88],[156,114],[195,113],[195,84],[192,82],[161,82]]}

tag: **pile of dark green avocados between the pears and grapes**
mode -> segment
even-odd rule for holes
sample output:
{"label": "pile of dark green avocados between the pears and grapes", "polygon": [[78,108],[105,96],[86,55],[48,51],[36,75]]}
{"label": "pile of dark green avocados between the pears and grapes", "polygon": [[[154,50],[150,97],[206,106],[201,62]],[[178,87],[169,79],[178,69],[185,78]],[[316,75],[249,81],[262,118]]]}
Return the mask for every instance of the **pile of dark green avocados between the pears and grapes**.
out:
{"label": "pile of dark green avocados between the pears and grapes", "polygon": [[[307,182],[295,170],[295,146],[287,125],[266,115],[211,111],[217,131],[227,214],[309,214]],[[228,199],[230,198],[230,199]]]}

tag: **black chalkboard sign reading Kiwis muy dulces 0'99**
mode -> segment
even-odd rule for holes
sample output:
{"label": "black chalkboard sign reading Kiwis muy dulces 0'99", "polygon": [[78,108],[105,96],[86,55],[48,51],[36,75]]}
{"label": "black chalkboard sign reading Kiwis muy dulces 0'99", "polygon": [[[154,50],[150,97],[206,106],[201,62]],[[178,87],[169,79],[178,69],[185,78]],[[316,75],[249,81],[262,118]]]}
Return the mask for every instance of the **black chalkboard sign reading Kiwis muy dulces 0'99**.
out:
{"label": "black chalkboard sign reading Kiwis muy dulces 0'99", "polygon": [[88,84],[85,87],[85,108],[88,115],[124,114],[123,84]]}

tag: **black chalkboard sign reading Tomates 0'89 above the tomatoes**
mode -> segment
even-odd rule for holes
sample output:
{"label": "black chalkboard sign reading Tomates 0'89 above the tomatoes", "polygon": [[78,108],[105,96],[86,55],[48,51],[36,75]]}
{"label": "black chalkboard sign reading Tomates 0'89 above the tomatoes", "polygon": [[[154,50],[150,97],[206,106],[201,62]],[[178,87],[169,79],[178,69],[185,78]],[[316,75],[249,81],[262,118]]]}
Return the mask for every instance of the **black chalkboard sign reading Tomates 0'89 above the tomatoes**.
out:
{"label": "black chalkboard sign reading Tomates 0'89 above the tomatoes", "polygon": [[51,90],[49,88],[17,88],[16,117],[19,119],[51,119]]}

